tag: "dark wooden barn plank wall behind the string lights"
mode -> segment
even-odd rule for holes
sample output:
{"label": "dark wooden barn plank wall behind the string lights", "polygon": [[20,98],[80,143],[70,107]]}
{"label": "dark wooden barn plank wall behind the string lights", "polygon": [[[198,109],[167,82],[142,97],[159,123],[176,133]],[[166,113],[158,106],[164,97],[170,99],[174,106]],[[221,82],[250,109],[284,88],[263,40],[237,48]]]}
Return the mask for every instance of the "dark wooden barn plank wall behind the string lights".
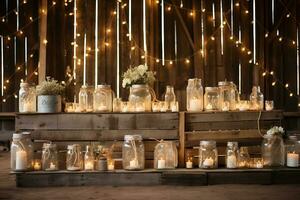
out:
{"label": "dark wooden barn plank wall behind the string lights", "polygon": [[[0,16],[5,15],[5,0],[0,0]],[[134,42],[128,42],[127,25],[120,24],[120,73],[122,74],[130,65],[135,66],[143,63],[143,55],[139,48],[130,50],[132,45],[143,47],[143,29],[142,29],[142,0],[134,0],[132,7],[132,32]],[[147,47],[148,54],[153,57],[161,57],[161,22],[160,6],[156,0],[147,0]],[[211,22],[212,3],[215,3],[216,25],[213,27]],[[253,52],[252,40],[252,0],[237,1],[239,7],[234,7],[234,35],[238,38],[238,27],[241,26],[242,42]],[[55,77],[58,80],[66,80],[66,70],[73,67],[73,2],[65,6],[64,1],[57,1],[56,6],[50,9],[52,1],[48,0],[47,16],[47,58],[46,74]],[[121,22],[128,22],[128,0],[125,9],[120,9]],[[205,13],[195,12],[191,17],[189,11],[180,9],[180,0],[165,0],[166,8],[168,5],[175,4],[172,10],[165,11],[165,55],[166,59],[175,59],[174,56],[174,23],[177,24],[178,32],[178,59],[170,65],[162,66],[161,62],[156,63],[155,59],[147,59],[152,70],[157,71],[158,81],[155,83],[155,90],[159,97],[162,97],[165,86],[171,84],[175,86],[178,99],[181,101],[181,109],[184,109],[185,88],[187,79],[199,77],[203,80],[204,86],[216,86],[218,81],[227,79],[238,84],[238,63],[242,63],[242,96],[247,97],[251,92],[252,85],[259,84],[266,96],[266,99],[274,99],[275,107],[293,111],[297,108],[297,97],[290,98],[289,93],[284,87],[277,84],[271,86],[272,78],[263,78],[261,76],[263,69],[273,70],[276,77],[283,83],[288,82],[290,89],[296,91],[296,47],[291,41],[296,41],[296,28],[299,27],[300,19],[300,1],[297,0],[275,0],[275,24],[271,23],[271,0],[256,1],[257,17],[257,60],[260,67],[249,63],[251,56],[241,53],[235,44],[229,39],[230,30],[227,25],[224,27],[224,55],[220,52],[220,0],[183,0],[184,8],[201,10],[206,9]],[[20,6],[20,27],[29,23],[29,16],[36,18],[39,13],[41,1],[28,0],[27,4]],[[95,27],[95,1],[77,0],[78,16],[77,29],[78,36],[78,58],[83,63],[83,35],[87,33],[87,44],[94,49],[94,27]],[[230,0],[223,0],[223,12],[225,20],[230,22]],[[16,1],[9,1],[9,10],[16,8]],[[99,0],[99,83],[108,83],[116,90],[116,17],[112,12],[116,9],[116,1]],[[249,14],[244,11],[248,9]],[[291,13],[290,18],[286,18],[287,13]],[[204,36],[206,48],[205,57],[199,52],[201,49],[201,18],[204,17]],[[298,23],[296,23],[296,20]],[[29,59],[28,69],[31,74],[38,66],[39,53],[39,21],[34,22],[24,29],[23,35],[18,35],[17,40],[17,63],[23,63],[24,60],[24,36],[28,36],[29,50],[34,53],[33,59]],[[0,35],[7,36],[16,31],[16,15],[9,15],[8,21],[0,23]],[[263,28],[264,27],[264,28]],[[105,30],[111,29],[110,33]],[[276,30],[280,31],[283,41],[279,42],[276,37]],[[268,30],[269,37],[264,35]],[[214,41],[209,40],[213,34]],[[286,39],[289,39],[287,41]],[[15,94],[19,88],[19,82],[24,77],[24,68],[16,72],[13,59],[13,36],[11,40],[5,38],[5,79],[12,76],[7,86],[5,94]],[[104,45],[110,43],[109,47]],[[196,53],[197,52],[197,53]],[[190,59],[190,64],[184,62],[184,58],[195,54]],[[83,64],[77,68],[76,90],[82,84]],[[87,82],[94,84],[94,52],[89,53],[87,58]],[[30,82],[37,83],[37,77],[31,76]],[[74,91],[73,82],[68,90],[67,99],[72,100]],[[127,98],[128,91],[122,89],[121,96]],[[3,97],[5,98],[5,97]],[[1,99],[2,100],[2,99]],[[2,101],[1,101],[2,102]],[[8,98],[5,104],[1,104],[1,111],[14,111],[17,108],[17,100]]]}

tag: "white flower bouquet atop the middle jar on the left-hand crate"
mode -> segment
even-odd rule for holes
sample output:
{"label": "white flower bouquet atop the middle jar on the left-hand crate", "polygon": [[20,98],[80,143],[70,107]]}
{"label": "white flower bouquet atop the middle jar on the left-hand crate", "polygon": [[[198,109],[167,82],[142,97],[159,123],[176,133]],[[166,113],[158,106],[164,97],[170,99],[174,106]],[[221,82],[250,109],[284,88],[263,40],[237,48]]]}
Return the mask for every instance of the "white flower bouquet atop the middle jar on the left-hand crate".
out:
{"label": "white flower bouquet atop the middle jar on the left-hand crate", "polygon": [[123,74],[123,88],[129,88],[135,84],[148,84],[151,85],[154,83],[155,72],[149,71],[147,65],[139,65],[137,67],[129,68]]}

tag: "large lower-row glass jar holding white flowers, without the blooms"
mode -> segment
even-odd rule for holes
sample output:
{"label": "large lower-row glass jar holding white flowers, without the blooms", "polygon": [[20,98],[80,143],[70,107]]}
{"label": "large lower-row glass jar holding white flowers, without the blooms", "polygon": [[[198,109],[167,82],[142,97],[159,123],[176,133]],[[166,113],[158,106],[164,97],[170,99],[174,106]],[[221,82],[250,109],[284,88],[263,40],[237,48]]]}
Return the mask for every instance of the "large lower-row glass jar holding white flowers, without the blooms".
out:
{"label": "large lower-row glass jar holding white flowers, without the blooms", "polygon": [[264,135],[262,142],[262,157],[264,160],[264,166],[284,166],[284,152],[284,144],[280,135]]}

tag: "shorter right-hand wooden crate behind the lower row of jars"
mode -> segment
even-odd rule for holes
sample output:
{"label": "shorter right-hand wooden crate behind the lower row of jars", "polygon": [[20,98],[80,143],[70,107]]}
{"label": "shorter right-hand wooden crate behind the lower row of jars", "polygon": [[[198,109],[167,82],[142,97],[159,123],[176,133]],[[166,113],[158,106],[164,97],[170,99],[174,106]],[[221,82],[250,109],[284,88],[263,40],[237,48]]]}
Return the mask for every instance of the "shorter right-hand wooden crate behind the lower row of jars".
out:
{"label": "shorter right-hand wooden crate behind the lower row of jars", "polygon": [[[180,138],[184,141],[180,151],[184,157],[198,155],[201,140],[215,140],[218,146],[219,163],[224,165],[226,143],[236,141],[239,146],[248,146],[250,154],[260,154],[262,135],[274,125],[281,125],[283,112],[248,111],[248,112],[201,112],[185,113],[184,133]],[[260,130],[260,131],[259,131]],[[198,159],[194,159],[198,165]]]}

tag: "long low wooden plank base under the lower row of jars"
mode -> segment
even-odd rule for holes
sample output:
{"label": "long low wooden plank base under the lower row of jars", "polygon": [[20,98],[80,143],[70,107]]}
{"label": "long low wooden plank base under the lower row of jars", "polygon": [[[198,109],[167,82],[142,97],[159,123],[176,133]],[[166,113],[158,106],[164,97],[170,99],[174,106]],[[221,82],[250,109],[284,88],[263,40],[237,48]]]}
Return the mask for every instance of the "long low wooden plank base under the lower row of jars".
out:
{"label": "long low wooden plank base under the lower row of jars", "polygon": [[216,184],[299,184],[300,168],[277,169],[175,169],[115,170],[107,172],[17,172],[18,187],[51,186],[140,186]]}

